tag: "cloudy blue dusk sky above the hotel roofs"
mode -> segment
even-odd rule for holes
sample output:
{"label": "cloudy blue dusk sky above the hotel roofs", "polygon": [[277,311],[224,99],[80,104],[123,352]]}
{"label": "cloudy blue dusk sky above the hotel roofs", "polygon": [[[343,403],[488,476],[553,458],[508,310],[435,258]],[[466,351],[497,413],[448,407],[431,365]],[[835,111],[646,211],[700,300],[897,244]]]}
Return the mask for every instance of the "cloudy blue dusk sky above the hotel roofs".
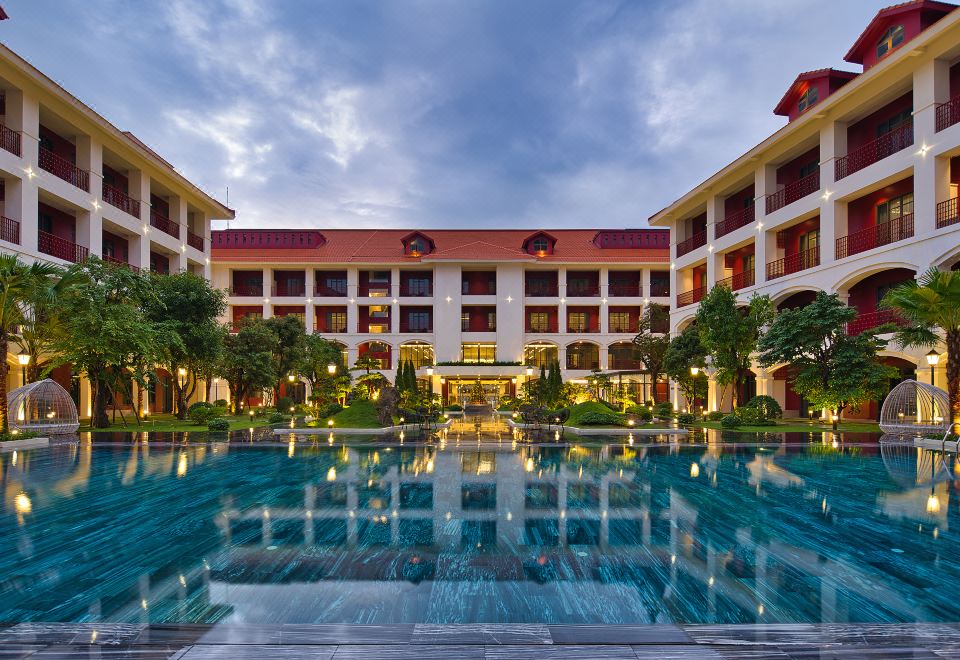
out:
{"label": "cloudy blue dusk sky above the hotel roofs", "polygon": [[231,227],[644,227],[891,2],[2,0],[0,41]]}

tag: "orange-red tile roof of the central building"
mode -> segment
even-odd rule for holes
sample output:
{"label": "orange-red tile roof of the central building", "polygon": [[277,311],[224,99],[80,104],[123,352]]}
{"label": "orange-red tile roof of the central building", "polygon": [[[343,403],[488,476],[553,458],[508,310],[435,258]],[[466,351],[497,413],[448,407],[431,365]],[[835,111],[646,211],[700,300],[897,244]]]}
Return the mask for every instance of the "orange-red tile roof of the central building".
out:
{"label": "orange-red tile roof of the central building", "polygon": [[[244,230],[233,230],[244,231]],[[275,234],[284,230],[264,230]],[[526,261],[578,263],[667,263],[667,247],[601,248],[594,239],[601,230],[550,230],[557,239],[553,254],[537,257],[523,250],[523,242],[535,231],[435,229],[420,230],[433,240],[435,249],[430,254],[415,257],[403,253],[404,237],[409,229],[323,229],[325,242],[316,248],[265,247],[251,244],[245,247],[217,246],[214,231],[210,256],[215,262],[268,263],[420,263],[431,261]],[[662,234],[664,230],[650,229]],[[249,230],[255,234],[258,230]]]}

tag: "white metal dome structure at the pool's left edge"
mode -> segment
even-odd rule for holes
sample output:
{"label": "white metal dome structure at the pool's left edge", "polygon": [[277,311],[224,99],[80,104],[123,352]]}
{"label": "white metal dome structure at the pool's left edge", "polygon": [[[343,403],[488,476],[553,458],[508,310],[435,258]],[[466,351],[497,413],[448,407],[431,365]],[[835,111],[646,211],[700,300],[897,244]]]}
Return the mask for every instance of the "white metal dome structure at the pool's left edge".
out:
{"label": "white metal dome structure at the pool's left edge", "polygon": [[38,380],[7,394],[10,427],[49,435],[68,435],[80,428],[77,406],[59,383]]}

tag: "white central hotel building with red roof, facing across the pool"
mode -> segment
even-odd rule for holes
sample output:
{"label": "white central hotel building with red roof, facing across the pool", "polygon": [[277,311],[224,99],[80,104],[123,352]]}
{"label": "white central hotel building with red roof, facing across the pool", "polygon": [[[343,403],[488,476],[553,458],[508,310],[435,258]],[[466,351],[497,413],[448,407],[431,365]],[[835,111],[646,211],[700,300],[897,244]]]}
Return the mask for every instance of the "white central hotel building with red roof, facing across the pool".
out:
{"label": "white central hotel building with red roof, facing across the pool", "polygon": [[652,396],[631,340],[646,305],[670,302],[667,231],[239,229],[212,240],[226,321],[298,316],[346,364],[371,355],[391,380],[401,361],[423,378],[433,366],[451,403],[477,379],[495,403],[528,365],[539,375],[553,361],[565,380],[603,369]]}

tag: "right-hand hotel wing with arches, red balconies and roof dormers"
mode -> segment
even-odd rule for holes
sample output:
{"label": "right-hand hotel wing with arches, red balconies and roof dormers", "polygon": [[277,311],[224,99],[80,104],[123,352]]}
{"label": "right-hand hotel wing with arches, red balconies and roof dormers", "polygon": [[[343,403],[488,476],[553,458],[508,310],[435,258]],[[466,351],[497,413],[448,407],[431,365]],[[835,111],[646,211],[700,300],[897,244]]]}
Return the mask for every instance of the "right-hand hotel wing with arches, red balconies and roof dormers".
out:
{"label": "right-hand hotel wing with arches, red balconies and roof dormers", "polygon": [[[862,332],[896,321],[878,308],[890,287],[960,267],[960,12],[926,0],[884,9],[845,59],[862,71],[798,76],[775,110],[785,127],[650,218],[671,232],[673,333],[716,285],[780,309],[838,293],[858,312],[848,332]],[[932,376],[925,354],[891,343],[883,357],[945,385],[945,360]],[[752,371],[757,393],[807,414],[785,367]],[[708,406],[720,402],[711,380]]]}

